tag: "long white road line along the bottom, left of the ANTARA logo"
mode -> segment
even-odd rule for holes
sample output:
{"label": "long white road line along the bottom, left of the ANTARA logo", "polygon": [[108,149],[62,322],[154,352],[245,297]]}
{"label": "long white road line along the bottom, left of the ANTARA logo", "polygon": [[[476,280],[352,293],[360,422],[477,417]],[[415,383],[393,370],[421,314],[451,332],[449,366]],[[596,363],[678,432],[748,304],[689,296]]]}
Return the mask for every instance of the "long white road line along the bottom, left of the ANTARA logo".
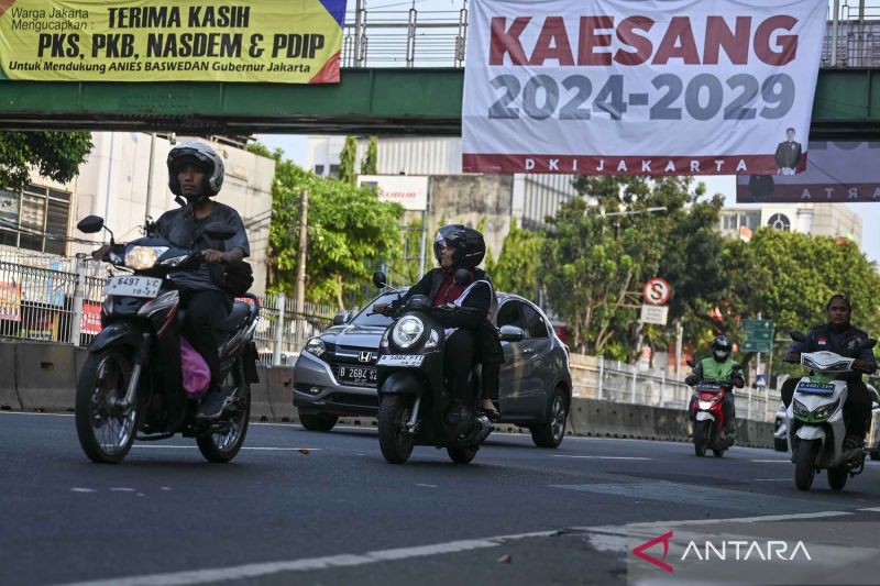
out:
{"label": "long white road line along the bottom, left of the ANTARA logo", "polygon": [[497,548],[508,541],[528,538],[547,538],[558,534],[559,531],[536,531],[515,535],[497,535],[493,538],[469,539],[418,545],[415,548],[400,548],[394,550],[378,550],[364,554],[328,555],[324,557],[306,557],[283,562],[268,562],[261,564],[245,564],[220,568],[204,568],[185,572],[169,572],[167,574],[147,574],[143,576],[124,576],[94,582],[79,582],[67,586],[172,586],[187,584],[205,584],[223,581],[253,581],[263,576],[271,576],[284,572],[304,572],[310,570],[326,570],[329,567],[352,567],[377,562],[407,560],[410,557],[427,557],[446,553],[465,552],[487,548]]}

